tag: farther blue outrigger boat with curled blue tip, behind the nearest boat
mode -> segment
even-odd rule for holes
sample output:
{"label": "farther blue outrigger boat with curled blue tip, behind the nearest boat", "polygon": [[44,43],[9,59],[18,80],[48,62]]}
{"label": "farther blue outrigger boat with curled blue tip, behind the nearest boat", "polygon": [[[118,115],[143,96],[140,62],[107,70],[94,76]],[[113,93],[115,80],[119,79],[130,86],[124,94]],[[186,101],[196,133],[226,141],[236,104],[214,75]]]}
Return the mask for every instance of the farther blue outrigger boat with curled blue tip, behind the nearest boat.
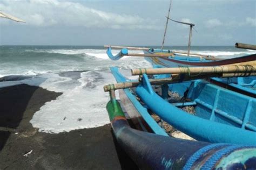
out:
{"label": "farther blue outrigger boat with curled blue tip, behind the nearest boat", "polygon": [[[244,47],[245,44],[236,44],[237,47]],[[111,60],[119,60],[123,56],[144,56],[145,59],[152,63],[154,68],[172,68],[172,67],[208,67],[208,66],[225,66],[225,65],[256,65],[256,54],[241,56],[238,58],[224,59],[215,58],[213,56],[205,56],[201,54],[192,54],[191,56],[180,55],[170,50],[123,47],[122,46],[105,46],[107,47],[107,55]],[[113,55],[112,48],[122,48],[121,51]],[[143,50],[144,54],[130,54],[129,49]],[[250,49],[256,49],[251,47]],[[229,77],[208,79],[211,83],[225,87],[239,93],[256,97],[256,76],[247,75],[246,77]]]}

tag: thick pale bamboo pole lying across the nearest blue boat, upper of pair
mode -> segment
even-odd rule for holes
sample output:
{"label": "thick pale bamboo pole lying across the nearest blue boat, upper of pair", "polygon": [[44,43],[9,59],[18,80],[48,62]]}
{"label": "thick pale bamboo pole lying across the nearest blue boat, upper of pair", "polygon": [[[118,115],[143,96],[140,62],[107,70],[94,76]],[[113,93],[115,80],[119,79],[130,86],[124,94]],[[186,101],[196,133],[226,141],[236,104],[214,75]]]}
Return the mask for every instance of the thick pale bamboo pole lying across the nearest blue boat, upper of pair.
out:
{"label": "thick pale bamboo pole lying across the nearest blue boat, upper of pair", "polygon": [[214,67],[179,67],[179,68],[139,68],[132,69],[132,75],[142,74],[200,74],[200,73],[254,73],[256,66],[248,65],[231,65],[231,66],[214,66]]}

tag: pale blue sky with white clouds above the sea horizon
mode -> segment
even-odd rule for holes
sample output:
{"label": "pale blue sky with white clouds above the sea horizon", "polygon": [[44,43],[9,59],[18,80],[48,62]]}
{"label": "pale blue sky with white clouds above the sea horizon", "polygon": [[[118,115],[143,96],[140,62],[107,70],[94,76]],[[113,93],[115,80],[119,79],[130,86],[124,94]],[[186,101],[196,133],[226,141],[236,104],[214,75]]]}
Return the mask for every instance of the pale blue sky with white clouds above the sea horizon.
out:
{"label": "pale blue sky with white clouds above the sea horizon", "polygon": [[[0,0],[0,45],[161,45],[169,0]],[[255,0],[172,0],[170,18],[196,24],[192,45],[256,44]],[[165,45],[187,45],[169,22]]]}

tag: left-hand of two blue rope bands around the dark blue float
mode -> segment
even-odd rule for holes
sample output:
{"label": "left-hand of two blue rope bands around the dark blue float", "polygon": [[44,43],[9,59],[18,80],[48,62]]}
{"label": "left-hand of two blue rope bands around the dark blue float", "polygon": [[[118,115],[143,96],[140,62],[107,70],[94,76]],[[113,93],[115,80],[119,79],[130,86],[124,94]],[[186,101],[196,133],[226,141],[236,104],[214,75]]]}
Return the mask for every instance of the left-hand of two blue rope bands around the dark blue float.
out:
{"label": "left-hand of two blue rope bands around the dark blue float", "polygon": [[214,148],[219,148],[221,146],[229,146],[231,144],[211,144],[207,145],[205,147],[200,148],[196,153],[194,153],[186,162],[186,165],[183,167],[183,170],[191,169],[193,166],[194,162],[196,162],[203,154],[207,153],[208,151],[214,149]]}

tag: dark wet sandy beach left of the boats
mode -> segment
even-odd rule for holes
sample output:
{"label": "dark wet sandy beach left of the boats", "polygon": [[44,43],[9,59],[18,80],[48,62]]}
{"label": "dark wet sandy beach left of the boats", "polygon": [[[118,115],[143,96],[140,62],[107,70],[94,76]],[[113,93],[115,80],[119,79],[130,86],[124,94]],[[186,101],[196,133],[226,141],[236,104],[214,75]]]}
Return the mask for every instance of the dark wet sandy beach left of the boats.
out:
{"label": "dark wet sandy beach left of the boats", "polygon": [[25,84],[0,89],[0,169],[137,169],[109,124],[58,134],[33,128],[33,114],[59,95]]}

